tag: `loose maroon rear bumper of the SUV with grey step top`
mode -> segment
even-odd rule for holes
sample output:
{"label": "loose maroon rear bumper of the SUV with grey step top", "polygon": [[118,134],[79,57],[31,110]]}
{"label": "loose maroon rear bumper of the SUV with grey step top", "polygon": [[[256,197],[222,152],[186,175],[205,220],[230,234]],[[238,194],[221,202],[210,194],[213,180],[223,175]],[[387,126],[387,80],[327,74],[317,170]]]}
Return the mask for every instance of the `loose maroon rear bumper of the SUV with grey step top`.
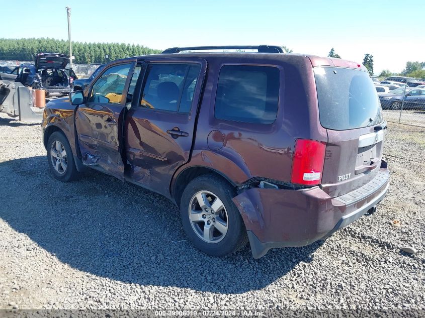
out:
{"label": "loose maroon rear bumper of the SUV with grey step top", "polygon": [[260,258],[272,248],[306,246],[325,239],[359,219],[385,197],[388,181],[383,162],[378,176],[364,186],[369,191],[362,187],[351,192],[351,199],[347,194],[331,198],[319,187],[251,188],[234,197],[233,202],[245,223],[252,255]]}

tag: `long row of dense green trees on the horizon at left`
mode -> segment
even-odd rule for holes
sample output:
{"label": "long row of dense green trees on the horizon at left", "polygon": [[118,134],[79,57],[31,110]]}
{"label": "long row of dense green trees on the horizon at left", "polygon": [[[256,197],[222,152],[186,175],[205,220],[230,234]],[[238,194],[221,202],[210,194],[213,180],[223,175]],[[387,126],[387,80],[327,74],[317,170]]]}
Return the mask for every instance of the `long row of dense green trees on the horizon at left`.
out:
{"label": "long row of dense green trees on the horizon at left", "polygon": [[[4,39],[0,38],[0,60],[33,61],[38,53],[62,53],[69,55],[68,41],[50,38]],[[113,61],[129,56],[160,53],[143,45],[125,43],[72,42],[74,63],[104,63],[105,55]]]}

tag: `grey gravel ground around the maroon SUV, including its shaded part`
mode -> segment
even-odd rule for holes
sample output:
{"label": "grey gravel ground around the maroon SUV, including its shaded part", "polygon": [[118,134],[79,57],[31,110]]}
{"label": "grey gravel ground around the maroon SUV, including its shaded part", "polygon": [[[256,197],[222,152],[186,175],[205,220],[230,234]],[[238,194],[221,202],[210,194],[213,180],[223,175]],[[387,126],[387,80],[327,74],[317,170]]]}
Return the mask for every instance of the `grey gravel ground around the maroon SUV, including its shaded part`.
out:
{"label": "grey gravel ground around the maroon SUV, including its shaded part", "polygon": [[424,128],[389,123],[374,215],[259,260],[198,252],[176,206],[140,187],[56,181],[40,134],[0,114],[0,308],[425,309]]}

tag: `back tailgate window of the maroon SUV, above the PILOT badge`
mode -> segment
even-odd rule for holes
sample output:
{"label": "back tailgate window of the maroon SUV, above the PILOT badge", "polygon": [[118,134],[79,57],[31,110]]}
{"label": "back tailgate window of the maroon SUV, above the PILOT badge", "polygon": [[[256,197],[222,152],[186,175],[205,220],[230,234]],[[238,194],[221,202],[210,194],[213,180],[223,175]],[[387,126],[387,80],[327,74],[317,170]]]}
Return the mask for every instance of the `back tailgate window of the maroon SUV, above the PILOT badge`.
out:
{"label": "back tailgate window of the maroon SUV, above the PILOT badge", "polygon": [[320,124],[332,130],[356,129],[382,121],[379,98],[369,74],[355,69],[314,69]]}

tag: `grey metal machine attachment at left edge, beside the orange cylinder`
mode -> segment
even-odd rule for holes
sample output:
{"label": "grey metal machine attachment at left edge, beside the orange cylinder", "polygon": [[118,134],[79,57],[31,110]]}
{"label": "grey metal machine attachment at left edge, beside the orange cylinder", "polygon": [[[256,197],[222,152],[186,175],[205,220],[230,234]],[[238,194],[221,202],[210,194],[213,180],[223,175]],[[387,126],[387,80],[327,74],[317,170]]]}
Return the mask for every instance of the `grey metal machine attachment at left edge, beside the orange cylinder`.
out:
{"label": "grey metal machine attachment at left edge, beside the orange cylinder", "polygon": [[35,113],[32,91],[19,82],[0,82],[0,112],[20,121],[41,123],[43,113]]}

